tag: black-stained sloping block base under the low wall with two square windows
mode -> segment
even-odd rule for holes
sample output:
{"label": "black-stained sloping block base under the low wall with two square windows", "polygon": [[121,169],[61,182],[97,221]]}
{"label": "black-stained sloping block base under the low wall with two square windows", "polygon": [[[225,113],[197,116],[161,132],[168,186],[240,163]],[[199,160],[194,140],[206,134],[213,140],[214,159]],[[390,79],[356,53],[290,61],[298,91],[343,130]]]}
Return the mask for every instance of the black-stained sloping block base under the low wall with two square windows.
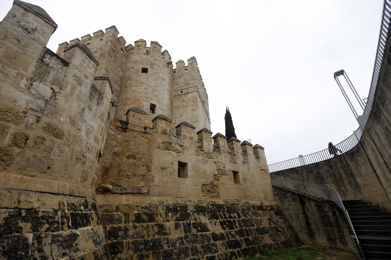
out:
{"label": "black-stained sloping block base under the low wall with two square windows", "polygon": [[237,259],[294,246],[277,205],[99,204],[113,259]]}

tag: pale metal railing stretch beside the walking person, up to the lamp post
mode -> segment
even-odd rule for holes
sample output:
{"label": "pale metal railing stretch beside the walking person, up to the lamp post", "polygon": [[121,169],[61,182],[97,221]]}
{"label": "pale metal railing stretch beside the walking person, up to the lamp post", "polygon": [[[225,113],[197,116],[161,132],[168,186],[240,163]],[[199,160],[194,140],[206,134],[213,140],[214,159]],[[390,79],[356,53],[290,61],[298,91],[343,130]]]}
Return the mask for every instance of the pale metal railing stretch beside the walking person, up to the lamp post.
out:
{"label": "pale metal railing stretch beside the walking person, up to the lamp post", "polygon": [[[304,166],[307,164],[318,163],[320,161],[325,161],[327,159],[333,158],[335,156],[338,156],[340,154],[343,154],[344,152],[351,150],[353,147],[357,145],[357,143],[359,143],[361,136],[362,136],[362,130],[359,127],[357,130],[354,131],[354,133],[351,136],[341,141],[340,143],[334,145],[334,147],[336,148],[335,150],[326,148],[324,150],[321,150],[319,152],[314,152],[312,154],[299,156],[279,163],[269,164],[267,165],[267,168],[269,169],[269,172],[272,173],[272,172],[277,172],[277,171],[286,170],[290,168]],[[333,152],[335,152],[335,154]]]}

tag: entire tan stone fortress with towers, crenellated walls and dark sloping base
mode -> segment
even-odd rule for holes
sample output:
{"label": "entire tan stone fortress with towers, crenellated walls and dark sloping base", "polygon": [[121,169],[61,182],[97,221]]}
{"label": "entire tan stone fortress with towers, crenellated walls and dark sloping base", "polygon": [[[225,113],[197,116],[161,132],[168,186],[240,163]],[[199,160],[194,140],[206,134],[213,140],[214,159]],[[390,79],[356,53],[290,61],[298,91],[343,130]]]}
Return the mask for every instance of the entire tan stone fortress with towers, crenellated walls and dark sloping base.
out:
{"label": "entire tan stone fortress with towers, crenellated walls and dark sloping base", "polygon": [[[264,148],[209,130],[194,57],[174,69],[115,26],[54,53],[56,28],[19,0],[0,23],[0,258],[241,259],[300,243]],[[313,243],[353,251],[327,207]]]}

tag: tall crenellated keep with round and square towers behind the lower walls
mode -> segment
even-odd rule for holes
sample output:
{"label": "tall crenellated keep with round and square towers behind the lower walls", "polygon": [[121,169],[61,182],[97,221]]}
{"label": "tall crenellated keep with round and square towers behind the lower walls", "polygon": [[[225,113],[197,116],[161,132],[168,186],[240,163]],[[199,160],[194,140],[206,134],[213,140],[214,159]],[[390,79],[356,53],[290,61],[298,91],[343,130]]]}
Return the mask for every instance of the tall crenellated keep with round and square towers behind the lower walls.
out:
{"label": "tall crenellated keep with round and square towers behind the lower walls", "polygon": [[[116,118],[126,120],[127,111],[133,107],[148,113],[152,103],[156,105],[154,114],[172,118],[173,124],[187,121],[197,130],[210,128],[208,95],[194,57],[188,59],[188,66],[179,61],[172,69],[169,52],[161,52],[158,42],[152,41],[147,47],[140,39],[135,41],[135,47],[125,46],[115,26],[105,32],[98,30],[92,37],[87,34],[81,40],[63,42],[56,54],[63,57],[68,46],[79,42],[86,44],[99,62],[95,77],[109,80],[115,106],[112,114]],[[142,68],[147,68],[148,73],[143,74]]]}

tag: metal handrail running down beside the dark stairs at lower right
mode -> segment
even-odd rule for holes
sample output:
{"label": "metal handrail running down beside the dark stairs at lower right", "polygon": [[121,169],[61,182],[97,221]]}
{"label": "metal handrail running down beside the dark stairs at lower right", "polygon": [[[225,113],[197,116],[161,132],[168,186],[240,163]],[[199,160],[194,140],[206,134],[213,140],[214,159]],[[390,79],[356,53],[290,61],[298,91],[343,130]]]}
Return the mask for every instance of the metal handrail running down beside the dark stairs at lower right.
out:
{"label": "metal handrail running down beside the dark stairs at lower right", "polygon": [[[348,220],[349,226],[353,232],[353,235],[351,235],[350,238],[352,239],[352,243],[357,253],[357,257],[359,259],[365,259],[364,255],[362,254],[362,249],[361,249],[359,239],[357,238],[357,234],[354,230],[352,221],[350,220],[349,213],[345,209],[338,192],[333,187],[327,184],[312,186],[305,182],[299,182],[297,180],[292,180],[286,177],[278,176],[273,173],[270,173],[270,179],[272,185],[275,187],[280,187],[288,191],[292,191],[294,193],[307,196],[317,201],[331,200],[332,202],[337,204],[338,207],[342,209],[346,219]],[[356,242],[357,242],[357,246],[356,246]]]}

